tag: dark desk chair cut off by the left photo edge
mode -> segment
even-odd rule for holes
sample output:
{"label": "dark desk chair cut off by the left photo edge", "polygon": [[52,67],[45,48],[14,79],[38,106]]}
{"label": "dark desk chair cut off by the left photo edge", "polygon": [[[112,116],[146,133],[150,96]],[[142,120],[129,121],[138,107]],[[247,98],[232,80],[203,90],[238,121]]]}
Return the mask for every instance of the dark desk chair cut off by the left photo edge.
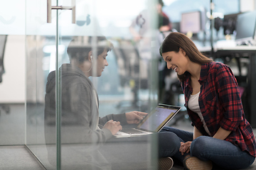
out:
{"label": "dark desk chair cut off by the left photo edge", "polygon": [[[4,50],[6,47],[7,35],[0,35],[0,83],[3,81],[2,76],[5,73],[4,70]],[[6,111],[6,113],[10,112],[9,105],[0,104],[0,108]],[[1,110],[0,110],[1,113]]]}

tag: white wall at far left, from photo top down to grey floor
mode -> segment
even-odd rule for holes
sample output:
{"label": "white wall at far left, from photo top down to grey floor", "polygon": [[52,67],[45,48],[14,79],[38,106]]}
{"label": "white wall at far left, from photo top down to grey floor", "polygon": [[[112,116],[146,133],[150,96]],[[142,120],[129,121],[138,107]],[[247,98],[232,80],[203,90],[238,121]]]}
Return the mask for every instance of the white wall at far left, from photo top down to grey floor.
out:
{"label": "white wall at far left, from photo top down to grey floor", "polygon": [[0,34],[8,35],[0,103],[25,102],[25,4],[26,0],[0,1]]}

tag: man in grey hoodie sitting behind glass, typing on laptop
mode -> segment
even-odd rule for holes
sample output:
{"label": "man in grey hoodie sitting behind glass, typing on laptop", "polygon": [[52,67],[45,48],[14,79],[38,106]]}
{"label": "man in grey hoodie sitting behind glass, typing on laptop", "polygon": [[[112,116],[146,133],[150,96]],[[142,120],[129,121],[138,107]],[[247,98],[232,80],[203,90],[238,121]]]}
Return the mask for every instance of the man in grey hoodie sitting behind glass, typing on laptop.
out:
{"label": "man in grey hoodie sitting behind glass, typing on laptop", "polygon": [[[92,52],[94,40],[97,46],[96,55]],[[121,130],[122,125],[139,123],[146,115],[132,111],[99,118],[97,91],[88,77],[102,75],[108,65],[107,52],[112,48],[112,43],[104,37],[88,37],[85,43],[72,40],[68,45],[70,64],[63,64],[60,67],[62,143],[87,143],[100,146]],[[55,129],[52,125],[55,123],[55,71],[50,72],[47,80],[46,144],[54,144]]]}

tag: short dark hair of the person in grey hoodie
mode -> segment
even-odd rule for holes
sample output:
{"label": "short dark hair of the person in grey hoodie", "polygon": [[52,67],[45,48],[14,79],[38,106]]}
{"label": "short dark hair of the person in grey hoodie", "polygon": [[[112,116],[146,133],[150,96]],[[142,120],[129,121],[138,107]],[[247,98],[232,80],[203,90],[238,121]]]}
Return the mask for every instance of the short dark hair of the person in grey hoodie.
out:
{"label": "short dark hair of the person in grey hoodie", "polygon": [[108,41],[104,36],[97,37],[75,37],[68,45],[68,57],[71,60],[76,60],[79,63],[85,62],[88,59],[88,53],[96,50],[97,56],[102,54],[104,50],[107,52],[113,49],[112,42]]}

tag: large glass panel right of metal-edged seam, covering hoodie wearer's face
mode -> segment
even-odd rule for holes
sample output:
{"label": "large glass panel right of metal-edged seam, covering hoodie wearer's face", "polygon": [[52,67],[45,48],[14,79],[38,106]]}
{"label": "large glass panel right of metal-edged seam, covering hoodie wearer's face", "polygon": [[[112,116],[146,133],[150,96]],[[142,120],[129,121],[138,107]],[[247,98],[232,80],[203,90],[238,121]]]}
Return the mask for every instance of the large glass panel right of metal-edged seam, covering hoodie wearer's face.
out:
{"label": "large glass panel right of metal-edged seam, covering hoodie wearer's face", "polygon": [[[112,137],[120,128],[112,119],[133,127],[124,112],[149,112],[157,103],[154,1],[123,3],[77,0],[76,24],[71,11],[60,13],[61,169],[156,168],[154,135]],[[133,39],[131,25],[145,27],[141,40]],[[55,73],[49,77],[54,84]]]}

